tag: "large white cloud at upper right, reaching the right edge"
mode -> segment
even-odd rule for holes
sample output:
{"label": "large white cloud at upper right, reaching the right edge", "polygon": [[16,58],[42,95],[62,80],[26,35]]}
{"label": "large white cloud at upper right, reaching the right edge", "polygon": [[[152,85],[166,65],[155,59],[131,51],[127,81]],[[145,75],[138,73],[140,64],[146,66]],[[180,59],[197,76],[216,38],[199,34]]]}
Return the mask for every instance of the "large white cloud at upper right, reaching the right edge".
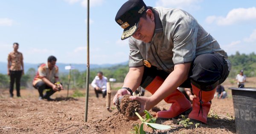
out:
{"label": "large white cloud at upper right, reaching the right edge", "polygon": [[232,25],[234,23],[248,23],[248,21],[256,20],[256,7],[248,9],[239,8],[229,11],[226,17],[209,16],[206,18],[207,23],[217,23],[217,25]]}

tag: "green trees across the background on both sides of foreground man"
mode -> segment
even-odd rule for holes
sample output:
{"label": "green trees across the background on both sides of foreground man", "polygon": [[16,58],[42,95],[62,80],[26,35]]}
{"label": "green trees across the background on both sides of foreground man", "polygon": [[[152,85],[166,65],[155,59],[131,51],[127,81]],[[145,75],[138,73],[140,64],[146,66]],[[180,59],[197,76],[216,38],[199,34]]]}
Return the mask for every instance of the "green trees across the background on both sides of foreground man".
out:
{"label": "green trees across the background on both sides of foreground man", "polygon": [[[244,74],[247,77],[256,76],[256,54],[253,52],[251,54],[240,54],[238,51],[234,55],[228,57],[232,64],[230,74],[228,77],[235,78],[236,74],[239,73],[241,69],[244,70]],[[118,65],[109,68],[95,68],[90,70],[89,83],[91,83],[94,77],[97,75],[98,71],[102,71],[105,77],[115,78],[116,82],[123,82],[126,74],[128,73],[128,65]],[[21,88],[33,88],[32,81],[36,74],[34,68],[29,68],[28,71],[21,77],[20,86]],[[67,88],[68,85],[68,74],[60,73],[59,77]],[[0,74],[0,88],[9,88],[9,76],[6,74]],[[70,88],[85,88],[86,87],[86,71],[79,71],[77,69],[71,70],[70,77]]]}

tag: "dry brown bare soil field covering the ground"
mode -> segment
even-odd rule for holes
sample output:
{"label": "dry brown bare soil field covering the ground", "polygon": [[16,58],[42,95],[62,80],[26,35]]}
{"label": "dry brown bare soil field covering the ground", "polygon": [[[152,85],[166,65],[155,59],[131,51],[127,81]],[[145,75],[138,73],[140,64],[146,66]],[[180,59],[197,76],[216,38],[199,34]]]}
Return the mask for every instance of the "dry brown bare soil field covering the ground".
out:
{"label": "dry brown bare soil field covering the ground", "polygon": [[[256,78],[247,78],[247,87],[256,87]],[[122,83],[113,83],[113,87],[121,87]],[[200,124],[199,128],[184,128],[178,125],[180,120],[157,120],[157,123],[170,125],[167,131],[154,131],[145,128],[148,134],[235,134],[235,121],[227,117],[234,117],[233,101],[229,87],[236,87],[233,80],[226,80],[223,84],[228,92],[227,99],[213,99],[211,109],[219,118],[208,118],[207,124]],[[70,90],[70,95],[74,90]],[[85,89],[81,89],[85,92]],[[14,92],[16,93],[16,92]],[[112,98],[116,91],[112,90]],[[67,91],[55,93],[55,101],[38,100],[35,89],[21,90],[21,98],[9,98],[7,89],[0,89],[0,134],[129,134],[133,125],[140,120],[131,121],[119,114],[114,105],[111,111],[106,110],[106,99],[95,97],[94,91],[89,91],[88,120],[84,122],[85,97],[68,97]],[[101,94],[100,94],[101,95]],[[149,92],[145,96],[150,96]],[[160,110],[168,109],[169,104],[161,101],[156,107]],[[150,111],[156,114],[155,111]]]}

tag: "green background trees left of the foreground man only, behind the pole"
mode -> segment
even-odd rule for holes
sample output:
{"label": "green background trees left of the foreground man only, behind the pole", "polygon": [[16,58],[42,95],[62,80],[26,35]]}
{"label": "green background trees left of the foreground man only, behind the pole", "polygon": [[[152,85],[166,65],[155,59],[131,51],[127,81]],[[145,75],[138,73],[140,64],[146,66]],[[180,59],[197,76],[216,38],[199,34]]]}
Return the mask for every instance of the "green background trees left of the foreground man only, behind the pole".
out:
{"label": "green background trees left of the foreground man only, behind the pole", "polygon": [[[94,77],[99,71],[103,72],[105,77],[115,78],[116,82],[123,82],[126,74],[128,73],[128,65],[118,65],[109,68],[95,68],[90,70],[89,83],[91,83]],[[35,77],[37,70],[29,68],[20,80],[21,88],[33,88],[32,81]],[[59,73],[59,78],[64,88],[68,86],[68,75],[69,73]],[[9,88],[10,77],[7,74],[0,73],[0,88]],[[71,70],[70,77],[70,88],[85,88],[86,87],[86,71],[79,71],[77,69]]]}

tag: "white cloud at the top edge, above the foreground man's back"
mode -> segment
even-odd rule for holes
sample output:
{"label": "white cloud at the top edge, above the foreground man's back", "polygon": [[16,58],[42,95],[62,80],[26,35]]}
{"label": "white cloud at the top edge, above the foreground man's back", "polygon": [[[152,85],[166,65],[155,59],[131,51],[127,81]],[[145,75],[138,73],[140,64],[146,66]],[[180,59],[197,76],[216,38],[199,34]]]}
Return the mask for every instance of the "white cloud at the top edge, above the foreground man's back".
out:
{"label": "white cloud at the top edge, above the foreground man's back", "polygon": [[158,0],[156,6],[198,10],[203,0]]}

